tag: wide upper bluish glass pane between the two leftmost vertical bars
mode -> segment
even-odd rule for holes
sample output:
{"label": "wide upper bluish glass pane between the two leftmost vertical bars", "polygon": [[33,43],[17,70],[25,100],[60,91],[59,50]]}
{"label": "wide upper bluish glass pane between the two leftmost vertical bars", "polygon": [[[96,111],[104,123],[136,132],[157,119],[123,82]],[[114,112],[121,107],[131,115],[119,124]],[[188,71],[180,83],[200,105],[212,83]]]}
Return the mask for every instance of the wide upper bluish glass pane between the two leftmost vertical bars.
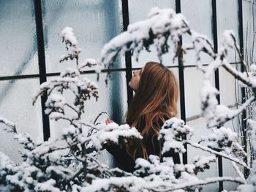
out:
{"label": "wide upper bluish glass pane between the two leftmost vertical bars", "polygon": [[[47,72],[60,72],[63,69],[59,58],[66,52],[60,34],[66,26],[73,28],[78,39],[78,47],[82,49],[80,61],[99,58],[105,43],[121,32],[120,3],[112,0],[43,0]],[[117,59],[113,68],[121,67],[120,60]],[[65,63],[65,66],[69,64]]]}

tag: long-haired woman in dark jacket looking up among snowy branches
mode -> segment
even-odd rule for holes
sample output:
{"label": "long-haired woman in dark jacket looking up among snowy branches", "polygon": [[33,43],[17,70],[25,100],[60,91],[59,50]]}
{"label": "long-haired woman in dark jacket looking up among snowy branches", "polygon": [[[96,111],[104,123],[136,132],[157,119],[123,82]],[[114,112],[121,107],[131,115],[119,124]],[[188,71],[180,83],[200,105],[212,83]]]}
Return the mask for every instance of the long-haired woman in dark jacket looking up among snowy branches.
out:
{"label": "long-haired woman in dark jacket looking up among snowy branches", "polygon": [[162,64],[148,62],[143,69],[133,72],[129,86],[135,96],[126,121],[140,131],[143,139],[123,148],[108,145],[107,150],[127,172],[134,171],[136,158],[148,159],[149,155],[158,155],[161,160],[162,156],[171,156],[175,164],[180,164],[178,153],[161,154],[162,141],[157,139],[165,120],[177,115],[178,83],[173,72]]}

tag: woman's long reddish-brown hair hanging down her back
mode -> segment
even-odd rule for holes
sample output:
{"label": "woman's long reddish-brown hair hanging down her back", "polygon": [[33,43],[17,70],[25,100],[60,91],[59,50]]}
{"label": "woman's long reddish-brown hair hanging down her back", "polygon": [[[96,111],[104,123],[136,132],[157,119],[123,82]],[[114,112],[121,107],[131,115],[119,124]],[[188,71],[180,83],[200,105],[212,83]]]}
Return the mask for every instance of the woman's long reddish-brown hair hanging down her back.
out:
{"label": "woman's long reddish-brown hair hanging down her back", "polygon": [[[178,82],[166,66],[148,62],[140,76],[138,90],[129,105],[127,123],[135,126],[143,137],[151,132],[159,135],[159,122],[177,115]],[[148,158],[146,146],[141,141],[127,146],[129,155]],[[159,154],[160,155],[160,154]]]}

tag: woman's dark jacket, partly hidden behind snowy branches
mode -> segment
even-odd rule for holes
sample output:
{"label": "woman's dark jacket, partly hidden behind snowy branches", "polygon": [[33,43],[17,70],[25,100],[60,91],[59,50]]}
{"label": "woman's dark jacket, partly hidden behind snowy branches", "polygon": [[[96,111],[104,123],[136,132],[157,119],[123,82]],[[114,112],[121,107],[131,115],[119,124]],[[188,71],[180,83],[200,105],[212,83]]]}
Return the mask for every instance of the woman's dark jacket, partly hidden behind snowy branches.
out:
{"label": "woman's dark jacket, partly hidden behind snowy branches", "polygon": [[[157,123],[159,128],[162,127],[162,120]],[[145,123],[144,123],[145,125]],[[156,123],[154,123],[156,125]],[[140,130],[140,128],[138,128]],[[149,155],[157,155],[159,156],[160,151],[162,150],[163,142],[162,140],[158,140],[157,136],[154,136],[153,131],[149,131],[149,133],[143,137],[143,141],[146,146],[146,151]],[[134,172],[135,171],[135,159],[132,158],[128,153],[125,147],[119,147],[119,145],[105,145],[106,150],[113,155],[115,160],[118,163],[118,167],[123,169],[126,172]],[[160,161],[162,161],[163,157],[173,157],[174,164],[180,164],[180,158],[178,153],[174,151],[169,151],[163,155],[161,155]]]}

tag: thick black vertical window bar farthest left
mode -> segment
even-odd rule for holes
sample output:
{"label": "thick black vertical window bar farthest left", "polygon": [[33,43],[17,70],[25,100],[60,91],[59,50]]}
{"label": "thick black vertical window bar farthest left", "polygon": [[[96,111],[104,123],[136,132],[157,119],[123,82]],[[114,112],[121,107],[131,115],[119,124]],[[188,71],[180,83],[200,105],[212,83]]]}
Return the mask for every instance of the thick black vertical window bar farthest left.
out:
{"label": "thick black vertical window bar farthest left", "polygon": [[[41,0],[34,0],[35,19],[37,27],[37,50],[38,50],[38,64],[39,64],[39,81],[46,82],[46,69],[45,69],[45,45],[44,35],[42,28],[42,7]],[[45,114],[45,101],[47,100],[47,94],[41,96],[42,107],[42,128],[44,134],[44,140],[47,141],[50,137],[50,123],[48,115]]]}

